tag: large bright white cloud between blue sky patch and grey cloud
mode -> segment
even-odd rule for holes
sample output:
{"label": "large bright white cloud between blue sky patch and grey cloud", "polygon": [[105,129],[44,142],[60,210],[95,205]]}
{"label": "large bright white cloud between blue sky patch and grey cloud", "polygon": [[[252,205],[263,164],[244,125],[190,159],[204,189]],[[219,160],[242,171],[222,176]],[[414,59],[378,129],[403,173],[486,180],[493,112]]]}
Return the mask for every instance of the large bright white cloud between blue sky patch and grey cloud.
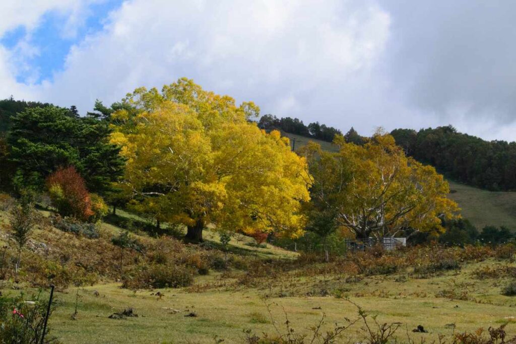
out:
{"label": "large bright white cloud between blue sky patch and grey cloud", "polygon": [[[340,99],[356,88],[349,79],[360,82],[374,68],[390,20],[362,1],[135,0],[71,50],[43,93],[84,112],[96,98],[109,103],[136,87],[186,76],[238,101],[253,100],[263,112],[351,126],[351,114],[349,124],[338,123],[325,107],[342,107]],[[335,99],[322,97],[330,104],[311,101],[334,87]]]}

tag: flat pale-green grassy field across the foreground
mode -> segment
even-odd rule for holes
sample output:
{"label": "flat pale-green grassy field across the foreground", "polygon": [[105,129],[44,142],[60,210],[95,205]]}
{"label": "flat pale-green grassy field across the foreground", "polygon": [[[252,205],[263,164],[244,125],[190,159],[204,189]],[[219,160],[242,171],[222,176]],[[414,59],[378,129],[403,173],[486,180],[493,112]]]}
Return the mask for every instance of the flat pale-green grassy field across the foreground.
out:
{"label": "flat pale-green grassy field across the foreground", "polygon": [[[379,322],[400,322],[398,338],[403,340],[406,329],[423,325],[429,331],[421,334],[424,338],[436,339],[438,334],[449,335],[455,324],[455,331],[473,331],[478,327],[498,326],[509,322],[507,330],[516,333],[516,299],[500,294],[502,282],[479,281],[471,272],[480,266],[495,266],[499,262],[488,260],[468,265],[459,273],[448,272],[432,279],[402,279],[399,274],[367,277],[357,283],[341,282],[350,300],[367,312],[376,315]],[[331,283],[339,283],[338,278],[329,277]],[[323,276],[313,280],[299,279],[296,285],[285,290],[320,285]],[[505,280],[505,279],[504,279]],[[221,282],[219,274],[201,276],[195,287],[183,289],[131,290],[120,289],[111,283],[82,288],[77,320],[71,319],[74,310],[75,291],[58,293],[60,306],[51,319],[53,334],[66,343],[214,343],[214,338],[224,342],[243,342],[243,331],[275,334],[271,317],[263,298],[270,290],[255,288],[234,288],[232,280]],[[214,285],[220,285],[213,287]],[[203,286],[212,286],[203,290]],[[439,292],[455,288],[467,292],[475,301],[450,300],[438,297]],[[94,292],[100,296],[96,297]],[[162,299],[155,296],[160,291]],[[274,293],[274,291],[272,291]],[[344,318],[357,316],[356,307],[334,295],[326,297],[272,296],[265,301],[270,306],[272,318],[280,332],[285,332],[285,313],[296,333],[310,333],[322,314],[326,315],[325,329],[331,329],[334,322],[344,323]],[[126,320],[109,319],[112,313],[124,307],[133,307],[137,318]],[[189,313],[196,317],[186,317]],[[347,332],[347,337],[360,340],[355,325]],[[419,338],[420,334],[417,335]]]}

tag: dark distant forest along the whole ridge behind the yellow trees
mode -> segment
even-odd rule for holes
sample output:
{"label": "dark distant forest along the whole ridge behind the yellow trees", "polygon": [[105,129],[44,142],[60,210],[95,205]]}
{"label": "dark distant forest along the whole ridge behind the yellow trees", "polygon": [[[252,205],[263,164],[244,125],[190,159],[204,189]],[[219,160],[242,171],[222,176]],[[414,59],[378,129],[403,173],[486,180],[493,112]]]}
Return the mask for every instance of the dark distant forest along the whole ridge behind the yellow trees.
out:
{"label": "dark distant forest along the whole ridge behind the yellow trees", "polygon": [[[10,125],[10,118],[29,107],[45,107],[48,103],[26,102],[10,99],[0,100],[0,163],[3,147],[1,136]],[[78,116],[75,107],[71,114]],[[262,116],[259,127],[280,129],[286,133],[331,142],[341,130],[319,122],[303,124],[297,118],[277,118],[271,114]],[[516,142],[486,141],[478,137],[458,133],[453,126],[421,129],[394,129],[391,135],[406,154],[416,160],[432,165],[449,178],[483,189],[498,191],[516,190]],[[347,142],[364,144],[352,127],[344,135]],[[4,152],[5,154],[6,152]]]}

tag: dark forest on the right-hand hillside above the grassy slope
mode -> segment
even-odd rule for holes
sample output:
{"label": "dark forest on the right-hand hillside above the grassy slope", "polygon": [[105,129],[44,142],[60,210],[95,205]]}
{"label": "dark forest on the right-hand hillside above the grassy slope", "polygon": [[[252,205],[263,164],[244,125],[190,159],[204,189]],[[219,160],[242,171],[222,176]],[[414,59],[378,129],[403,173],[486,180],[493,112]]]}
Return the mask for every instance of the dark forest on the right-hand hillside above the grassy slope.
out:
{"label": "dark forest on the right-hand hillside above the grassy slope", "polygon": [[516,190],[516,142],[486,141],[451,126],[395,129],[405,152],[446,176],[488,190]]}

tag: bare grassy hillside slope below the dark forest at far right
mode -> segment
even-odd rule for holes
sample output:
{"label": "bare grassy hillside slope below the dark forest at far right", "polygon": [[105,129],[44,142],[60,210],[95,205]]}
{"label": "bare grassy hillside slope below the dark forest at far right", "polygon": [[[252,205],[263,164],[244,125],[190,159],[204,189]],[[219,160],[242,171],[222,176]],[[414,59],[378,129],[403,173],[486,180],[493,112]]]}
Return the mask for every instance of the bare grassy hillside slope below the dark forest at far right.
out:
{"label": "bare grassy hillside slope below the dark forest at far right", "polygon": [[486,225],[506,226],[516,230],[516,192],[487,191],[448,181],[449,198],[459,204],[462,217],[473,223],[478,230]]}

